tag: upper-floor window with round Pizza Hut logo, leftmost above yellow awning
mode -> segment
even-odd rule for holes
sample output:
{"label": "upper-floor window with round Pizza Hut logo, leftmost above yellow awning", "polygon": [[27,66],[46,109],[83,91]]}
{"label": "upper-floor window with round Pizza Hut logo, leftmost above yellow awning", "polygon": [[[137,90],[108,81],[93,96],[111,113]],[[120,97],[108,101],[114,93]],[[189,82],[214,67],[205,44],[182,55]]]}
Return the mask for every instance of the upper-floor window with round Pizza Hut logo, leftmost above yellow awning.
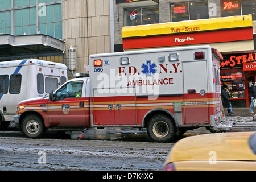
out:
{"label": "upper-floor window with round Pizza Hut logo, leftmost above yellow awning", "polygon": [[159,23],[159,7],[133,7],[125,9],[125,26]]}

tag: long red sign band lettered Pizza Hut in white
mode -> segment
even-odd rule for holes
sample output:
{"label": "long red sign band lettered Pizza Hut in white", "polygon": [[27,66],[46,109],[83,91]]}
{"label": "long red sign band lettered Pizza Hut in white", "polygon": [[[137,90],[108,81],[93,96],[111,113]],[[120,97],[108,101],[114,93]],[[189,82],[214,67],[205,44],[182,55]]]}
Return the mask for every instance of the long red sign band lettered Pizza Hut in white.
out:
{"label": "long red sign band lettered Pizza Hut in white", "polygon": [[123,39],[123,49],[183,46],[239,40],[253,40],[252,28],[125,38]]}

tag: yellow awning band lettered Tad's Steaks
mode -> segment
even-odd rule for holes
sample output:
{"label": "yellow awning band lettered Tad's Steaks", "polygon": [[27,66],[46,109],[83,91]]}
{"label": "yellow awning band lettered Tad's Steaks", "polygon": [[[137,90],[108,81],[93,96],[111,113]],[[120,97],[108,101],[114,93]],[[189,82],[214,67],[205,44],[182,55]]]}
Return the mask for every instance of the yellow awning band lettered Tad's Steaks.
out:
{"label": "yellow awning band lettered Tad's Steaks", "polygon": [[122,38],[252,27],[251,15],[148,24],[122,28]]}

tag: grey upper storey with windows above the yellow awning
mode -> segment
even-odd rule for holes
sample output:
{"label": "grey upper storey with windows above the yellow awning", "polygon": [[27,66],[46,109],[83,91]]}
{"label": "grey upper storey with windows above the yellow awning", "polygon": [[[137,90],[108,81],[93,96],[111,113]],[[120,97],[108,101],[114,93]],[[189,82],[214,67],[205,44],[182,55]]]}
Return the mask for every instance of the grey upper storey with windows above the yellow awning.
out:
{"label": "grey upper storey with windows above the yellow awning", "polygon": [[255,0],[116,0],[114,6],[115,44],[122,44],[123,26],[179,22],[227,16],[253,16],[256,33]]}

